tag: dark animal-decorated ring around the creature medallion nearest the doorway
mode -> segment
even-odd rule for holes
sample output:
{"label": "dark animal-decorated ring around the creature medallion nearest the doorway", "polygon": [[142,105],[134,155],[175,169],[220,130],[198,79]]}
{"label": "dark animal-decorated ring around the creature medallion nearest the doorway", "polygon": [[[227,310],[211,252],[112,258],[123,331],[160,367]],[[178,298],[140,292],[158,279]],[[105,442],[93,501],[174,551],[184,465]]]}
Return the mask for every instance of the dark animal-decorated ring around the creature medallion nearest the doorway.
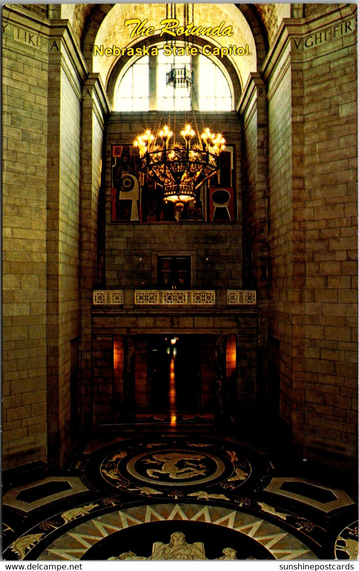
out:
{"label": "dark animal-decorated ring around the creature medallion nearest the doorway", "polygon": [[[109,449],[111,453],[108,452]],[[154,459],[149,462],[149,468],[151,466],[155,473],[153,477],[148,477],[146,470],[139,473],[136,466],[138,459],[145,458],[146,455],[152,459],[155,455],[165,457],[166,453],[174,457],[172,459],[174,461],[170,462],[167,467],[165,459]],[[185,480],[176,477],[176,473],[183,473],[184,468],[190,473],[190,468],[188,468],[190,459],[186,465],[181,458],[175,458],[178,453],[183,453],[184,460],[186,460],[186,455],[202,456],[204,459],[207,457],[208,463],[212,465],[212,473],[204,474],[203,478],[198,475]],[[214,465],[217,466],[216,469]],[[193,463],[193,467],[196,468],[196,463]],[[109,489],[115,488],[145,496],[162,494],[163,497],[174,498],[182,497],[186,488],[201,490],[201,487],[206,486],[205,490],[202,489],[199,492],[202,496],[198,498],[206,496],[206,498],[218,497],[228,500],[224,493],[235,491],[249,479],[252,481],[252,461],[247,459],[236,443],[232,441],[218,443],[214,440],[212,442],[190,442],[183,437],[167,437],[161,442],[147,441],[147,439],[121,441],[111,448],[100,449],[91,455],[85,471],[87,480],[90,484],[93,482],[91,485],[95,485],[97,489],[103,488],[103,484],[106,484]],[[162,479],[160,479],[161,472],[164,476]],[[206,492],[208,486],[211,488],[210,492]],[[220,494],[213,493],[217,491],[215,486]]]}

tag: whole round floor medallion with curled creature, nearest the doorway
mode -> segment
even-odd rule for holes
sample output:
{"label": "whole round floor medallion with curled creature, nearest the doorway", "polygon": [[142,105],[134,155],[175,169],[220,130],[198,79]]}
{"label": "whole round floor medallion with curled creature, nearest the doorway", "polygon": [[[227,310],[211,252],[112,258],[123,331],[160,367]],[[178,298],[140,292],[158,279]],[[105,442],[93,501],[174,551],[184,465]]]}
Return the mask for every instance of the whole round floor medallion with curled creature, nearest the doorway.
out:
{"label": "whole round floor medallion with curled creature, nearest the doorway", "polygon": [[[218,491],[234,490],[252,474],[250,461],[233,443],[190,442],[185,439],[122,441],[97,457],[102,485],[145,496],[173,496],[173,490],[201,490],[218,486]],[[87,469],[93,477],[94,460]],[[182,490],[182,492],[180,491]],[[217,494],[225,498],[225,494]]]}

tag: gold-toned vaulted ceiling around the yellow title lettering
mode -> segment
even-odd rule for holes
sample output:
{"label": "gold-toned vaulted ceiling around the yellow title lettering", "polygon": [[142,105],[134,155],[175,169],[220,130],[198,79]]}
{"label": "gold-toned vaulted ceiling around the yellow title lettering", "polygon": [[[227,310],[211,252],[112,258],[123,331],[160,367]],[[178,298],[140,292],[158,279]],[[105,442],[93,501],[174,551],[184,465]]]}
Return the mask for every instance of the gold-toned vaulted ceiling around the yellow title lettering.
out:
{"label": "gold-toned vaulted ceiling around the yellow title lettering", "polygon": [[[192,21],[192,5],[190,21]],[[184,5],[176,4],[177,18],[182,24]],[[126,19],[147,19],[147,26],[155,28],[151,40],[163,40],[159,37],[160,22],[166,17],[166,5],[157,3],[124,4],[62,4],[61,17],[69,19],[75,38],[82,47],[90,71],[101,75],[104,85],[110,77],[111,69],[118,59],[115,55],[93,56],[93,45],[104,47],[130,47],[143,42],[142,37],[130,37],[133,26],[125,26]],[[290,17],[289,3],[269,4],[229,4],[218,3],[210,9],[208,3],[194,4],[194,23],[201,26],[216,26],[222,21],[232,25],[233,35],[220,38],[202,38],[205,43],[214,46],[248,44],[251,55],[229,55],[234,70],[245,85],[249,73],[257,71],[273,43],[278,27],[284,17]]]}

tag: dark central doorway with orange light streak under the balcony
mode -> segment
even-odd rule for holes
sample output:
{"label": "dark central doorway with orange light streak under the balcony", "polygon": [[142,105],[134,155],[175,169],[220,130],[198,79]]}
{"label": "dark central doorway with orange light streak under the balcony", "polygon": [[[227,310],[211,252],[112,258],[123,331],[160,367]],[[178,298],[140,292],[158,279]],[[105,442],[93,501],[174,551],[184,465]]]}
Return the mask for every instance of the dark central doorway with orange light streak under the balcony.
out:
{"label": "dark central doorway with orange light streak under the balcony", "polygon": [[151,411],[197,412],[200,339],[196,335],[154,335],[148,349]]}

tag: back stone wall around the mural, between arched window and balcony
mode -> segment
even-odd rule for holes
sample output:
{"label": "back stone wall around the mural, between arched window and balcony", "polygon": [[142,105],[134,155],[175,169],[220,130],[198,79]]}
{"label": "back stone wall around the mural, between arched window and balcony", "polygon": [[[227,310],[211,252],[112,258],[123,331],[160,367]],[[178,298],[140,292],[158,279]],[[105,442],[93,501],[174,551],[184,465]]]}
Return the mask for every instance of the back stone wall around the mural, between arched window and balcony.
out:
{"label": "back stone wall around the mural, between arched window and balcony", "polygon": [[[106,287],[141,288],[157,285],[157,255],[192,256],[192,288],[241,288],[241,138],[234,112],[201,115],[201,126],[221,131],[226,142],[236,144],[237,216],[235,223],[111,223],[111,144],[132,144],[146,126],[158,127],[157,112],[118,114],[109,120],[106,140]],[[192,122],[193,122],[193,118]],[[190,120],[191,120],[190,119]],[[167,118],[163,118],[165,122]],[[188,120],[188,119],[187,119]],[[199,122],[199,119],[197,119]],[[185,123],[185,114],[176,122]]]}

